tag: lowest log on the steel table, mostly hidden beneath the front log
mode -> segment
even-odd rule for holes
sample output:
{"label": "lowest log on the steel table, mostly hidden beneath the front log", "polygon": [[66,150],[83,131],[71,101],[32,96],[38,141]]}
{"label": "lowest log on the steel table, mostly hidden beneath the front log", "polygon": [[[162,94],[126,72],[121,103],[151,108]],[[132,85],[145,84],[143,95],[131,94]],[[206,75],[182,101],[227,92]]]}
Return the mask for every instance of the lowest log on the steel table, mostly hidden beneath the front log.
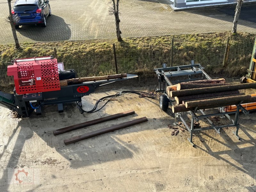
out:
{"label": "lowest log on the steel table, mostly hidden beneath the front log", "polygon": [[[239,102],[236,103],[236,102],[230,101],[226,105],[215,105],[214,104],[212,106],[198,107],[197,109],[207,109],[207,108],[224,107],[224,106],[229,106],[229,105],[237,105]],[[244,103],[252,103],[252,102],[256,102],[256,97],[255,96],[253,96],[252,99],[249,102],[248,101],[243,101],[242,104],[244,104]],[[193,111],[194,109],[195,109],[194,107],[186,108],[185,105],[175,105],[175,106],[172,106],[172,113],[185,112],[185,111]]]}

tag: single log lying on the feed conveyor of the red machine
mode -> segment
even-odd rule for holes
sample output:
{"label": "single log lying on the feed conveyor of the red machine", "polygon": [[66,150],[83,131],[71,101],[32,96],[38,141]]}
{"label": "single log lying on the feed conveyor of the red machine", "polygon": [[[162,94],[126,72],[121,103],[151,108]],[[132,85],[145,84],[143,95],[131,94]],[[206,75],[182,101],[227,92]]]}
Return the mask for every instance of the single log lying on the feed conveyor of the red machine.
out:
{"label": "single log lying on the feed conveyor of the red machine", "polygon": [[96,77],[81,77],[75,79],[66,79],[60,81],[60,86],[67,86],[71,84],[79,84],[88,81],[100,81],[100,80],[109,80],[109,79],[122,79],[127,77],[127,74],[116,74],[116,75],[106,75],[106,76],[96,76]]}

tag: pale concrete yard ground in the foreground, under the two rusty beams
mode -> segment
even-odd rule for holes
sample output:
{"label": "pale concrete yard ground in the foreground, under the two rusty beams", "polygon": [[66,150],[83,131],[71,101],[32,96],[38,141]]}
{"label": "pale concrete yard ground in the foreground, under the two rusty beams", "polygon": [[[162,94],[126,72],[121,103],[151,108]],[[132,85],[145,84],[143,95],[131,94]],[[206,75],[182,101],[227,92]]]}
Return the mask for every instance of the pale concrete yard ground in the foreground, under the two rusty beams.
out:
{"label": "pale concrete yard ground in the foreground, under the two rusty beams", "polygon": [[[151,91],[154,87],[125,88]],[[84,97],[95,100],[124,89],[98,89]],[[54,136],[52,131],[133,109],[135,115]],[[80,114],[75,104],[44,108],[43,116],[14,119],[0,108],[0,191],[255,191],[256,116],[240,114],[241,140],[234,127],[205,131],[187,141],[188,131],[172,136],[171,112],[158,100],[124,95],[101,111]],[[146,116],[148,122],[65,146],[63,139]],[[234,117],[234,116],[232,116]],[[186,118],[185,120],[189,120]],[[221,124],[218,118],[215,123]],[[203,124],[203,123],[202,123]],[[8,184],[8,168],[40,171],[38,184]],[[36,178],[37,180],[38,178]]]}

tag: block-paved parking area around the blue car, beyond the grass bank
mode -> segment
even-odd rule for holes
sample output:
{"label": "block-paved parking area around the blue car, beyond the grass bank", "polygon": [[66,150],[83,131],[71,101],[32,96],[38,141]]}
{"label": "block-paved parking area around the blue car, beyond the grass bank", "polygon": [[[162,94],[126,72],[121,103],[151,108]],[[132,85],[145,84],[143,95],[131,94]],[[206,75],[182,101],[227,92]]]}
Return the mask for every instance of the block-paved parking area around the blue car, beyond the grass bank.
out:
{"label": "block-paved parking area around the blue car, beyond the grass bank", "polygon": [[[12,1],[12,4],[15,1]],[[116,38],[114,16],[108,14],[109,0],[50,0],[52,16],[47,27],[22,26],[20,42],[75,41]],[[6,0],[0,0],[0,44],[13,43]],[[120,1],[123,37],[167,36],[232,30],[232,16],[215,9],[174,12],[169,0]],[[243,11],[243,10],[242,10]],[[256,23],[239,19],[238,31],[255,33]]]}

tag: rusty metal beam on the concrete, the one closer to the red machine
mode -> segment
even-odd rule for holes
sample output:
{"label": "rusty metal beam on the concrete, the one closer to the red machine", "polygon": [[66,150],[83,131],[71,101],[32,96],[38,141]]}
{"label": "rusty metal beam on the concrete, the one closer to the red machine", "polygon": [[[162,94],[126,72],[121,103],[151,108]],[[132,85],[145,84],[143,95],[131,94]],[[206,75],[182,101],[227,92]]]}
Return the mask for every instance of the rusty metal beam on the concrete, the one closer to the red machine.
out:
{"label": "rusty metal beam on the concrete, the one closer to the red machine", "polygon": [[91,125],[103,123],[103,122],[110,121],[110,120],[113,120],[113,119],[117,119],[117,118],[120,118],[120,117],[132,115],[134,113],[135,112],[133,110],[124,111],[122,113],[117,113],[117,114],[106,116],[106,117],[102,117],[102,118],[99,118],[99,119],[94,119],[92,121],[87,121],[87,122],[84,122],[84,123],[80,123],[80,124],[64,127],[64,128],[61,128],[61,129],[57,129],[57,130],[53,131],[53,134],[54,135],[59,135],[61,133],[66,133],[66,132],[69,132],[69,131],[74,131],[76,129],[80,129],[80,128],[83,128],[83,127],[88,127],[88,126],[91,126]]}

